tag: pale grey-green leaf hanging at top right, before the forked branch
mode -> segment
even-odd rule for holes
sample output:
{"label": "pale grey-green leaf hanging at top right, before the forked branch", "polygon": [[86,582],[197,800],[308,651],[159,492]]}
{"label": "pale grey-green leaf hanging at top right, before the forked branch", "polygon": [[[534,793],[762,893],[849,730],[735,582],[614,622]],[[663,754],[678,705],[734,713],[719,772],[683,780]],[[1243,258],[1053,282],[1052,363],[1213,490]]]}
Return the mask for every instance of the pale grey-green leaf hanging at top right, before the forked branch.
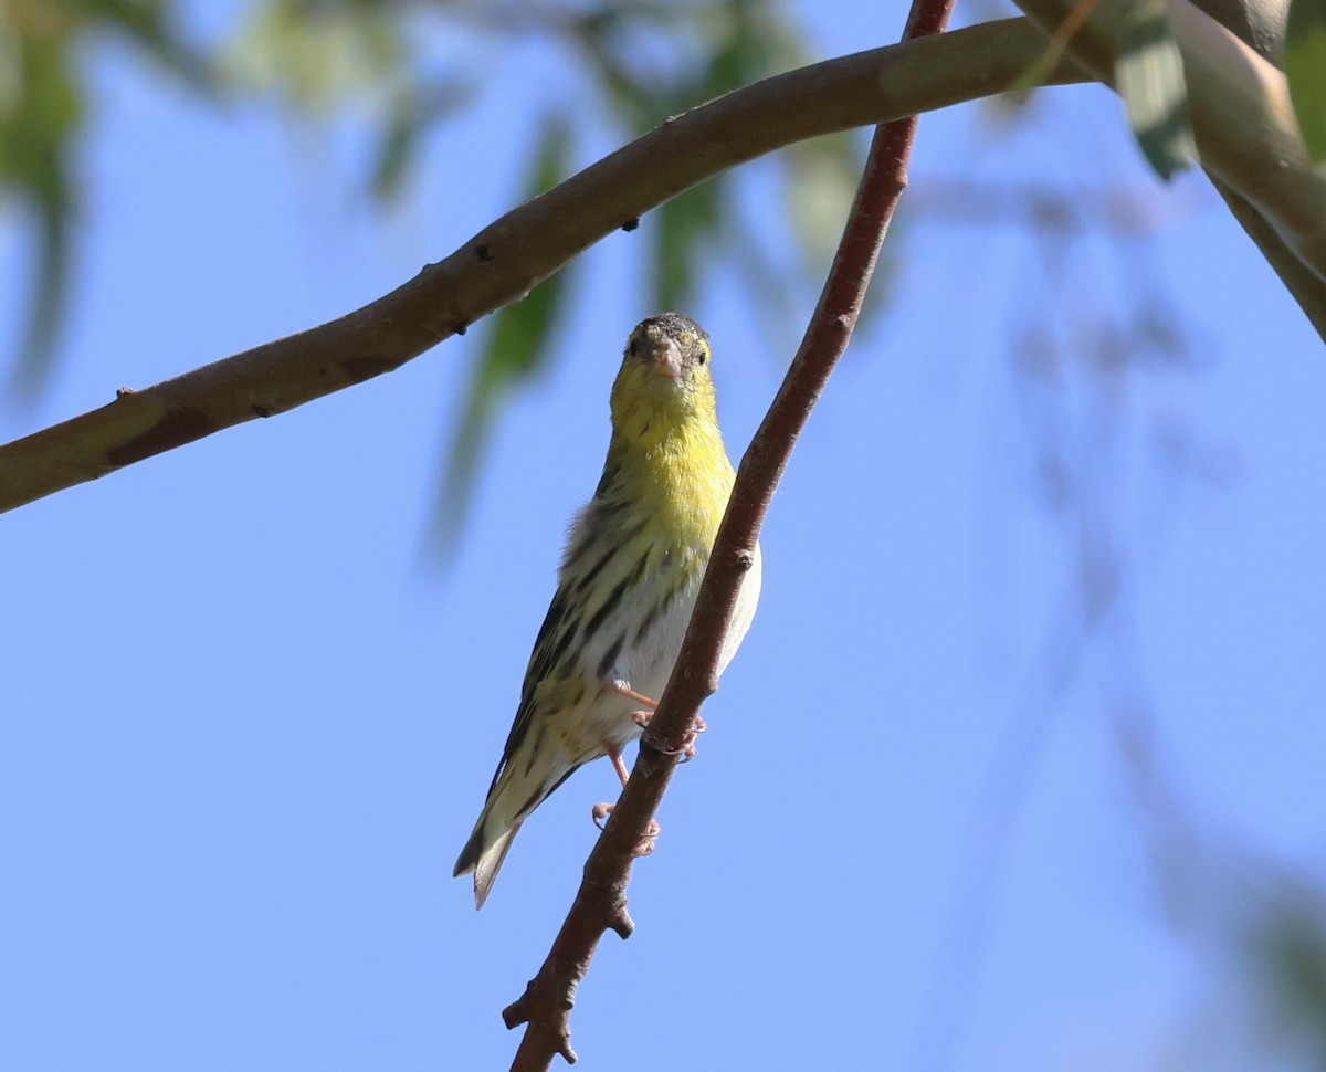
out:
{"label": "pale grey-green leaf hanging at top right, before the forked branch", "polygon": [[1168,182],[1196,161],[1197,145],[1188,121],[1183,56],[1170,33],[1162,0],[1146,0],[1132,11],[1114,76],[1138,145]]}

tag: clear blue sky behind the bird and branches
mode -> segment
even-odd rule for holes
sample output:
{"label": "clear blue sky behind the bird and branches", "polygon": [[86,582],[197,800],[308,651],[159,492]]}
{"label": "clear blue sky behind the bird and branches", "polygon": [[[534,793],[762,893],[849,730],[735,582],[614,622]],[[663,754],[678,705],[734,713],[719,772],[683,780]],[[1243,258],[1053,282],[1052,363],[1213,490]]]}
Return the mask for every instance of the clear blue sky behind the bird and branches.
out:
{"label": "clear blue sky behind the bird and branches", "polygon": [[[802,17],[825,54],[862,44]],[[562,70],[533,42],[493,56],[383,218],[353,130],[213,111],[98,50],[66,345],[4,438],[346,312],[504,211],[521,107]],[[581,990],[585,1068],[1248,1067],[1231,921],[1277,869],[1319,874],[1326,835],[1321,344],[1203,179],[1154,184],[1113,97],[1034,107],[1008,137],[977,109],[927,118],[918,200],[953,178],[1109,184],[1171,223],[1055,259],[904,220],[890,302],[770,509],[760,613],[636,868],[638,931]],[[25,261],[0,219],[12,320]],[[622,342],[656,312],[636,245],[586,256],[446,573],[423,537],[477,333],[4,519],[0,1065],[505,1067],[500,1011],[574,894],[610,767],[525,825],[483,913],[451,865]],[[1089,371],[1139,296],[1192,360]],[[770,353],[721,264],[687,312],[737,456],[796,337]],[[1162,466],[1158,436],[1209,479]],[[1102,540],[1120,594],[1079,639],[1075,549]],[[1154,731],[1189,840],[1140,803],[1120,711]]]}

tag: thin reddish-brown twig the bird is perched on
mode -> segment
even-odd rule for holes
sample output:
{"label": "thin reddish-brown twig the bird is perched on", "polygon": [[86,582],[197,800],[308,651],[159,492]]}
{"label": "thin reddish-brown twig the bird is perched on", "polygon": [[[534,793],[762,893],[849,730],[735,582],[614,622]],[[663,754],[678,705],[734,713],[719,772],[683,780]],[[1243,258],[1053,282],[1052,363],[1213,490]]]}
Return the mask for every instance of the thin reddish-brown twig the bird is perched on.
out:
{"label": "thin reddish-brown twig the bird is perched on", "polygon": [[[943,31],[952,3],[914,0],[904,37]],[[606,930],[627,938],[634,929],[626,911],[626,888],[635,848],[646,838],[700,706],[717,689],[719,651],[741,578],[753,563],[760,527],[792,448],[857,325],[879,248],[907,186],[916,123],[916,117],[910,115],[875,130],[819,304],[778,394],[741,459],[682,651],[658,711],[640,738],[631,780],[585,862],[585,878],[548,959],[525,992],[503,1011],[507,1027],[528,1024],[512,1072],[546,1069],[558,1053],[568,1061],[575,1060],[570,1012],[579,982]]]}

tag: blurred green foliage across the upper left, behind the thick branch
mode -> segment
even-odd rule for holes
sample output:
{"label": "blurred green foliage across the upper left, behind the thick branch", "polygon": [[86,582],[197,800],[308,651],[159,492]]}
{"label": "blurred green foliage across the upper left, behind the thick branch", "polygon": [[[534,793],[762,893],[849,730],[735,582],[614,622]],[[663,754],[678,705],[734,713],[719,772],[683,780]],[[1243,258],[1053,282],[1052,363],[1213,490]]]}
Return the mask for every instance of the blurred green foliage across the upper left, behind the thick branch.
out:
{"label": "blurred green foliage across the upper left, behind the thick branch", "polygon": [[[9,0],[0,7],[0,40],[11,56],[0,66],[0,182],[17,195],[37,235],[29,324],[13,368],[15,389],[29,397],[49,377],[70,297],[77,146],[95,119],[95,102],[82,85],[88,42],[118,34],[134,54],[195,86],[203,101],[256,98],[305,123],[361,123],[373,146],[361,178],[381,204],[407,188],[420,150],[448,117],[479,98],[487,72],[497,69],[456,61],[476,42],[503,48],[537,40],[564,53],[578,74],[570,93],[581,100],[562,107],[549,106],[548,94],[530,94],[530,110],[544,114],[529,139],[525,179],[512,190],[518,198],[589,163],[573,161],[570,146],[586,143],[590,138],[578,135],[590,133],[602,141],[605,122],[610,139],[627,142],[672,114],[818,58],[786,8],[770,0],[249,0],[233,27],[206,44],[179,29],[190,12],[182,0]],[[583,106],[585,94],[594,106]],[[766,314],[758,320],[774,336],[785,334],[789,295],[815,280],[833,253],[858,154],[849,135],[838,135],[778,154],[774,166],[785,220],[752,219],[737,195],[744,176],[731,174],[646,220],[650,295],[642,308],[688,308],[701,272],[727,259]],[[483,223],[475,220],[475,230]],[[770,252],[766,236],[778,226],[801,251],[794,264]],[[452,516],[439,519],[438,532],[455,533],[489,426],[512,393],[545,368],[566,293],[564,283],[549,280],[485,325],[443,480],[439,509]]]}

